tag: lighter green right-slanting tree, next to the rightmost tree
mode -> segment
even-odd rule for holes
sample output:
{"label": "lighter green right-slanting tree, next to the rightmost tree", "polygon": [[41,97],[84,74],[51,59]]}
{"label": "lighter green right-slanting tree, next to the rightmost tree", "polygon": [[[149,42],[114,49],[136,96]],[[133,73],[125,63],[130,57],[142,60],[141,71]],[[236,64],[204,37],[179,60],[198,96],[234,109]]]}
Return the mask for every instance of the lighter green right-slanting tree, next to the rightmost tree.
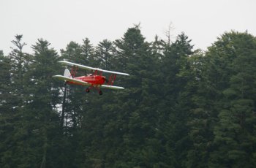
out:
{"label": "lighter green right-slanting tree, next to the rightmost tree", "polygon": [[198,88],[192,97],[194,106],[190,110],[189,137],[192,148],[188,153],[187,167],[208,167],[213,150],[214,126],[222,107],[222,91],[227,88],[232,48],[227,45],[229,37],[219,38],[201,59]]}

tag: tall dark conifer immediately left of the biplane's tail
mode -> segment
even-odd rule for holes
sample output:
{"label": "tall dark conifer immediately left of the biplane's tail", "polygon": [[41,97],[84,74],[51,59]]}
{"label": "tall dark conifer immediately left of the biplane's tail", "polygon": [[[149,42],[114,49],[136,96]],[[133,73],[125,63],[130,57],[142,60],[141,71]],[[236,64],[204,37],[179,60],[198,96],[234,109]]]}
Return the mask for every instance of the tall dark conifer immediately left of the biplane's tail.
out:
{"label": "tall dark conifer immediately left of the biplane's tail", "polygon": [[49,48],[49,45],[50,43],[44,39],[38,39],[37,43],[32,45],[34,62],[29,72],[31,100],[27,105],[29,113],[26,119],[29,121],[29,118],[34,118],[28,129],[31,130],[30,137],[37,142],[37,148],[34,149],[34,154],[37,153],[35,167],[63,167],[59,165],[59,159],[54,159],[59,156],[56,150],[61,150],[57,113],[57,104],[60,101],[59,83],[51,78],[60,68],[56,66],[59,56],[56,50]]}

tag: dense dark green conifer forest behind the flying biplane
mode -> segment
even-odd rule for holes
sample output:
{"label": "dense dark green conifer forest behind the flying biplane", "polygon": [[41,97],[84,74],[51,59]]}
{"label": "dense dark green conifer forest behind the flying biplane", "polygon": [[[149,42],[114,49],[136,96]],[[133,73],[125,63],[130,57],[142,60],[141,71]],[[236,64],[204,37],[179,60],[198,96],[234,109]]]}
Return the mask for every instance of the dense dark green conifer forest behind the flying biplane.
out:
{"label": "dense dark green conifer forest behind the flying biplane", "polygon": [[[17,34],[10,47],[0,51],[1,168],[256,167],[256,37],[247,31],[224,32],[205,51],[185,33],[147,42],[138,26],[97,45],[85,37],[57,51]],[[124,90],[86,93],[53,78],[62,60],[130,76],[116,77]]]}

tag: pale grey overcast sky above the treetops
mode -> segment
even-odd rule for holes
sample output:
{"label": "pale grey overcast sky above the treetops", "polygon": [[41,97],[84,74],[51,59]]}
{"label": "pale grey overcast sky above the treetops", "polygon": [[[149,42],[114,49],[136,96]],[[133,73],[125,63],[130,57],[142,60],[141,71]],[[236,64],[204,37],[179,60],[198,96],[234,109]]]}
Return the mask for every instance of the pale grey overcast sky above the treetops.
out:
{"label": "pale grey overcast sky above the treetops", "polygon": [[94,45],[123,37],[140,23],[148,42],[165,38],[172,23],[173,39],[184,31],[195,48],[206,50],[225,31],[256,36],[255,0],[0,0],[0,50],[10,52],[11,40],[23,34],[31,45],[43,38],[56,50],[88,37]]}

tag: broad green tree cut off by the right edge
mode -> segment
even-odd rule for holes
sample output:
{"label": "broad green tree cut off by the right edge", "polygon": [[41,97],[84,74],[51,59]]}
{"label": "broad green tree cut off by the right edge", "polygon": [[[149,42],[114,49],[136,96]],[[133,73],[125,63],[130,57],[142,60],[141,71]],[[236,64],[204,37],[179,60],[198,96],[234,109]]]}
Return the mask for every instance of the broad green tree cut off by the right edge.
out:
{"label": "broad green tree cut off by the right edge", "polygon": [[[255,63],[256,39],[247,33],[230,32],[227,46],[233,60],[227,88],[223,91],[219,122],[214,128],[211,164],[218,167],[255,167]],[[222,157],[219,157],[220,154]]]}

